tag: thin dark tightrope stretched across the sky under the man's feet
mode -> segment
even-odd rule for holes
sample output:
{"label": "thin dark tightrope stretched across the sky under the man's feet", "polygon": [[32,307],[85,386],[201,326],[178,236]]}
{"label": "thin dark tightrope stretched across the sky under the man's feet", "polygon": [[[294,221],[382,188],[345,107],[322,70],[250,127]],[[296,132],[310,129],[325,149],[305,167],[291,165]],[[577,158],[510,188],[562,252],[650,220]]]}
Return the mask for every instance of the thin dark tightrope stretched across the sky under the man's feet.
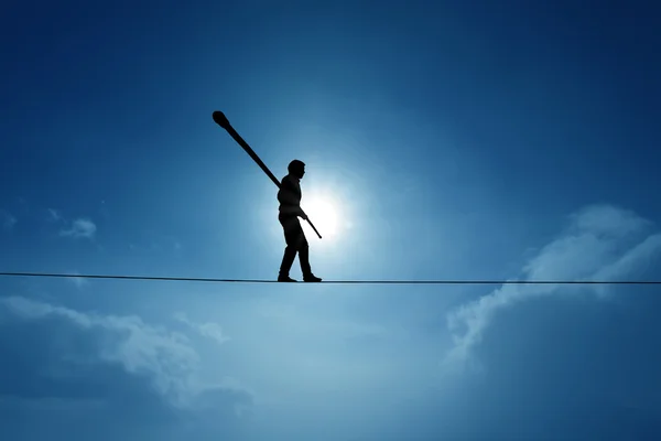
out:
{"label": "thin dark tightrope stretched across the sky under the man's feet", "polygon": [[[198,277],[71,275],[57,272],[0,272],[2,277],[151,280],[213,283],[280,283],[271,279],[218,279]],[[661,284],[661,280],[324,280],[334,284]]]}

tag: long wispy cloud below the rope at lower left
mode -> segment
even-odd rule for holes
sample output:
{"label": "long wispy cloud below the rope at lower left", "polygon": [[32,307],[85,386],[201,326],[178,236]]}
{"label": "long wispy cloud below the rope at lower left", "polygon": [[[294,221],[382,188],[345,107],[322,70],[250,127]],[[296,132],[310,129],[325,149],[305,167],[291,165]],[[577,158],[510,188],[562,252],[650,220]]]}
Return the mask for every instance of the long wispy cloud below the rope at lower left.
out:
{"label": "long wispy cloud below the rope at lower left", "polygon": [[0,305],[23,320],[63,319],[84,331],[97,333],[96,358],[119,364],[131,374],[147,375],[153,389],[173,406],[196,406],[209,390],[237,390],[229,380],[225,381],[227,385],[203,383],[198,376],[199,355],[188,337],[149,325],[138,316],[83,313],[23,297],[2,298]]}

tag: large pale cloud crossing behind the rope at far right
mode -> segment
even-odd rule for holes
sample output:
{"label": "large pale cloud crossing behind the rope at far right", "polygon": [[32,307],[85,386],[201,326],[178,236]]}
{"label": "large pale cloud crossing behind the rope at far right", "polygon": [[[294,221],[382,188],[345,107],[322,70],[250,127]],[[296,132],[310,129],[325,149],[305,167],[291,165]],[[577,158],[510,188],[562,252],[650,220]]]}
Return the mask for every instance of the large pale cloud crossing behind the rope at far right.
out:
{"label": "large pale cloud crossing behind the rope at far right", "polygon": [[[635,278],[661,255],[661,234],[651,223],[610,205],[588,206],[570,216],[570,225],[522,269],[522,280],[615,280]],[[587,288],[586,288],[587,287]],[[505,284],[463,304],[447,316],[454,346],[448,364],[472,363],[470,349],[481,341],[495,314],[520,301],[576,292],[606,293],[604,286]]]}

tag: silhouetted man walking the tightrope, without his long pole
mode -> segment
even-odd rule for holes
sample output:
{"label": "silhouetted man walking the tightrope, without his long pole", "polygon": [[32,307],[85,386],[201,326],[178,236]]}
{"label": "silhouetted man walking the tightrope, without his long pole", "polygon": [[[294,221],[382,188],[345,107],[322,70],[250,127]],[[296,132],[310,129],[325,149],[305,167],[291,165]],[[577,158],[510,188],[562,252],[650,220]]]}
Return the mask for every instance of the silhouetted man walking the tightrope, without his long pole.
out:
{"label": "silhouetted man walking the tightrope, without his long pole", "polygon": [[310,268],[307,239],[299,222],[299,216],[307,219],[307,215],[301,209],[301,179],[305,174],[305,164],[295,159],[290,162],[288,171],[289,174],[282,179],[280,191],[278,192],[278,201],[280,202],[278,219],[284,229],[284,240],[286,241],[278,281],[296,281],[290,278],[289,271],[294,263],[297,252],[299,261],[301,262],[301,272],[303,272],[303,281],[321,282],[322,279],[314,276]]}

